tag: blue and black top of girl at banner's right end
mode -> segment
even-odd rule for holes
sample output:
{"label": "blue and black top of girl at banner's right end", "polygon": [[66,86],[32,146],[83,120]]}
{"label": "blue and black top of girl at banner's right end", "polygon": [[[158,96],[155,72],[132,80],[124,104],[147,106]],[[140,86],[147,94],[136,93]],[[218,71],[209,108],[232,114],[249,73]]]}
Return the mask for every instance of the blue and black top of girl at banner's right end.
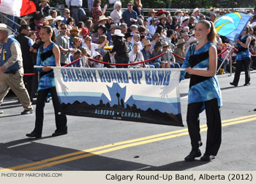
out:
{"label": "blue and black top of girl at banner's right end", "polygon": [[[189,66],[194,69],[209,68],[208,51],[211,45],[214,44],[207,42],[198,50],[195,50],[196,44],[191,45],[181,68],[187,69]],[[181,72],[181,80],[184,78],[185,74],[186,72]],[[188,97],[188,104],[218,99],[219,107],[222,106],[222,94],[216,74],[214,77],[202,77],[192,74],[189,84]],[[200,112],[202,112],[204,109],[205,108],[203,105]]]}

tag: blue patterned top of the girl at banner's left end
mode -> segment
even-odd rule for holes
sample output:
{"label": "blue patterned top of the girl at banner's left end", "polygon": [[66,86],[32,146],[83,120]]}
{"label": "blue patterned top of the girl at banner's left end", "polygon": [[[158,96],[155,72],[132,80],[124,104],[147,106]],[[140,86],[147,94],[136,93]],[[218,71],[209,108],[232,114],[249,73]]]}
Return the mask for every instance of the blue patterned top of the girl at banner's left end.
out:
{"label": "blue patterned top of the girl at banner's left end", "polygon": [[[53,42],[50,45],[48,45],[48,47],[46,47],[45,49],[43,48],[44,45],[41,45],[39,47],[37,52],[37,66],[56,66],[54,54],[49,54],[49,57],[45,58],[44,61],[42,61],[41,56],[42,53],[50,53],[50,51],[53,50],[54,45],[56,45],[56,43]],[[41,72],[41,74],[43,74],[43,76],[39,80],[37,91],[40,91],[42,89],[53,88],[56,86],[53,71],[44,72],[42,71],[42,68],[37,68],[37,70]]]}

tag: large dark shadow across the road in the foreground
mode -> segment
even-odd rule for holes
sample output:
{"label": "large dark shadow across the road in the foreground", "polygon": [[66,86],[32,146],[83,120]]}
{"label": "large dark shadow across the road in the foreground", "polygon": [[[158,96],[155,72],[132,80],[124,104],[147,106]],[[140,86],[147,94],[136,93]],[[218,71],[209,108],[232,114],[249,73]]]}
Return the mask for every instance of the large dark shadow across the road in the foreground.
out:
{"label": "large dark shadow across the road in the foreground", "polygon": [[[42,137],[41,139],[49,138]],[[42,144],[37,140],[40,139],[18,139],[12,142],[0,143],[0,167],[10,168],[32,164],[31,166],[41,166],[37,168],[41,171],[182,171],[206,164],[201,161],[177,161],[164,166],[150,166],[138,163],[136,158],[130,158],[134,161],[125,161],[67,147]],[[52,159],[45,161],[49,158]],[[38,161],[45,162],[38,163]],[[52,163],[53,165],[44,165]],[[20,169],[28,168],[29,166],[23,166]]]}

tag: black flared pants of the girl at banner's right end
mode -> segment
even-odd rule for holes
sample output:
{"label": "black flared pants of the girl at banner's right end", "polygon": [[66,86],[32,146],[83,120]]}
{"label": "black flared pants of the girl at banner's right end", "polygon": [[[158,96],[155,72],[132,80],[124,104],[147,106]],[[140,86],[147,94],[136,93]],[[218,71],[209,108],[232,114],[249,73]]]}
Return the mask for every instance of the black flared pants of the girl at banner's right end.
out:
{"label": "black flared pants of the girl at banner's right end", "polygon": [[[222,142],[222,122],[218,100],[211,99],[209,101],[204,101],[204,104],[206,107],[206,120],[208,126],[206,154],[216,156]],[[192,150],[198,150],[201,143],[199,120],[201,107],[203,107],[203,102],[189,104],[187,108],[187,126],[189,129]]]}

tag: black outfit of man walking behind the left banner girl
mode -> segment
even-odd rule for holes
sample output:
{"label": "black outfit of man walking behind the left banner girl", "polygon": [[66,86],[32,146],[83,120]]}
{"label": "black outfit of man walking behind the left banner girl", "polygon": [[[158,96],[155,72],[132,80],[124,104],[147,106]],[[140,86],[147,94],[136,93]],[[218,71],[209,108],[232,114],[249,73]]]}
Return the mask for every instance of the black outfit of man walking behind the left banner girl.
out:
{"label": "black outfit of man walking behind the left banner girl", "polygon": [[[16,37],[18,42],[20,43],[22,58],[23,58],[23,69],[24,74],[34,73],[34,60],[32,58],[32,53],[29,51],[29,37],[26,36],[26,34],[19,34],[18,37]],[[37,91],[37,76],[36,75],[26,75],[23,77],[23,81],[25,84],[25,87],[29,93],[29,98],[31,102],[33,101],[34,94]]]}

